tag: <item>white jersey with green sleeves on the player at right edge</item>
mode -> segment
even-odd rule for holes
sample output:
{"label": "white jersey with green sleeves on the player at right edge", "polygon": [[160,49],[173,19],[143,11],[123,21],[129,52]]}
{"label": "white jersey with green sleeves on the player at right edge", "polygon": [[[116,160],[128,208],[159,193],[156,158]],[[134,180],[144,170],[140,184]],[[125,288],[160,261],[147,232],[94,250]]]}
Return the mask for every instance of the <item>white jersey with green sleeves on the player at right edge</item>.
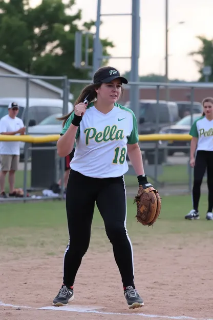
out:
{"label": "white jersey with green sleeves on the player at right edge", "polygon": [[194,122],[189,134],[198,138],[197,151],[213,151],[213,120],[201,116]]}

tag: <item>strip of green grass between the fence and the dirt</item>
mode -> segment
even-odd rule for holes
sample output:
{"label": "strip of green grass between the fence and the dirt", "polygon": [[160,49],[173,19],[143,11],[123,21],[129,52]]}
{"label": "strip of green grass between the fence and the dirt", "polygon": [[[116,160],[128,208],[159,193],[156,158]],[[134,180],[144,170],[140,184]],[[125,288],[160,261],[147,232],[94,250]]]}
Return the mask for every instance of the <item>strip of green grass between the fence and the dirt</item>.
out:
{"label": "strip of green grass between the fence and the dirt", "polygon": [[[191,209],[190,196],[165,196],[162,198],[162,212],[160,219],[152,227],[142,227],[136,223],[136,205],[133,199],[127,199],[127,229],[129,234],[138,237],[141,233],[147,236],[159,234],[183,234],[202,233],[212,230],[211,222],[205,220],[207,197],[202,195],[200,202],[201,220],[197,223],[185,221],[184,215]],[[33,203],[1,204],[0,212],[0,245],[11,247],[29,247],[45,245],[65,244],[67,242],[67,219],[65,202],[48,201]],[[93,226],[94,236],[99,237],[103,233],[102,218],[95,209]],[[54,233],[54,237],[52,234]],[[33,243],[31,236],[33,234]],[[41,240],[43,238],[43,241]],[[36,239],[36,241],[35,241]]]}

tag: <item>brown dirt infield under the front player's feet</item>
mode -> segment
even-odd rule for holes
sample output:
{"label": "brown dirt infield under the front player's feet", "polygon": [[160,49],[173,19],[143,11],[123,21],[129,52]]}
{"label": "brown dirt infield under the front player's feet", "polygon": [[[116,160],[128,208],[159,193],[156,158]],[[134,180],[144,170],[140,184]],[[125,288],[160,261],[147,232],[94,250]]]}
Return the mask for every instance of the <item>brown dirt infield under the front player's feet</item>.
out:
{"label": "brown dirt infield under the front player's feet", "polygon": [[56,320],[59,316],[77,320],[213,318],[212,232],[205,233],[205,238],[202,234],[193,238],[161,235],[141,240],[140,244],[133,242],[133,248],[135,283],[145,306],[128,309],[108,244],[103,250],[92,246],[77,274],[75,299],[70,306],[93,306],[94,310],[102,307],[84,313],[59,311],[56,307],[38,310],[51,306],[60,288],[63,248],[56,250],[56,255],[3,250],[0,301],[16,307],[1,305],[1,320]]}

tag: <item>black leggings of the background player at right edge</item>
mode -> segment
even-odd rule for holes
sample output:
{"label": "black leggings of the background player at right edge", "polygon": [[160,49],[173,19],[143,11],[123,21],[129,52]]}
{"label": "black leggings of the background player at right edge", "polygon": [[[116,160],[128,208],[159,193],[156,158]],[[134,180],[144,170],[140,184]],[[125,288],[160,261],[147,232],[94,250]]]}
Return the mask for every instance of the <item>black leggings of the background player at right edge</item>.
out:
{"label": "black leggings of the background player at right edge", "polygon": [[207,169],[208,210],[213,209],[213,151],[197,151],[194,168],[193,207],[198,212],[200,188]]}

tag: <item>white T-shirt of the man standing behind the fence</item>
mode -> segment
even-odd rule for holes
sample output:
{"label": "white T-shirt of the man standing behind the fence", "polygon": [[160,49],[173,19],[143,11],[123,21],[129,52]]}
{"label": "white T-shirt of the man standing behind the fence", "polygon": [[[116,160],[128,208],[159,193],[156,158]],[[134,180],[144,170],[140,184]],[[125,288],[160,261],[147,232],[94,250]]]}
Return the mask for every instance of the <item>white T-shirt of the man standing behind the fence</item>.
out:
{"label": "white T-shirt of the man standing behind the fence", "polygon": [[[22,119],[15,117],[11,118],[8,114],[0,119],[0,134],[2,132],[13,132],[24,127]],[[17,133],[19,135],[19,133]],[[0,154],[20,154],[19,141],[0,141]]]}

